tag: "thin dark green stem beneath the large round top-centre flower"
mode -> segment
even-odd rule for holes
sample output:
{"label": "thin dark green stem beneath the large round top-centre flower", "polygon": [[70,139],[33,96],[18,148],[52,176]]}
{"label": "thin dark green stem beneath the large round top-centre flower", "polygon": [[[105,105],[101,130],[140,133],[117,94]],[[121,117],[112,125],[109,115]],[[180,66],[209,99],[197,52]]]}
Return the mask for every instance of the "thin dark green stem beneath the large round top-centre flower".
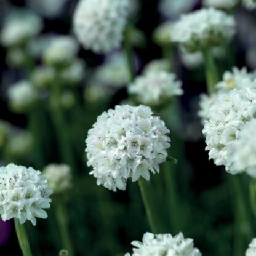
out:
{"label": "thin dark green stem beneath the large round top-centre flower", "polygon": [[130,41],[130,26],[127,26],[124,31],[124,50],[126,54],[127,67],[130,74],[130,82],[134,81],[135,71],[134,71],[134,60],[132,56],[132,43]]}

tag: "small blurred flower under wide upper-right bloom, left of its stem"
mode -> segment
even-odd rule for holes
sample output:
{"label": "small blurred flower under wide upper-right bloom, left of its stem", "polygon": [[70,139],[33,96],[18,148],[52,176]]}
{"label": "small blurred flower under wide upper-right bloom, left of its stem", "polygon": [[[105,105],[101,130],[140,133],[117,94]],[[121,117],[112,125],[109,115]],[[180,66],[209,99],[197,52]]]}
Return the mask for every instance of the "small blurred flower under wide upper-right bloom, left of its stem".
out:
{"label": "small blurred flower under wide upper-right bloom, left of its stem", "polygon": [[182,64],[190,70],[198,68],[204,63],[202,52],[186,52],[186,50],[180,49],[180,59]]}

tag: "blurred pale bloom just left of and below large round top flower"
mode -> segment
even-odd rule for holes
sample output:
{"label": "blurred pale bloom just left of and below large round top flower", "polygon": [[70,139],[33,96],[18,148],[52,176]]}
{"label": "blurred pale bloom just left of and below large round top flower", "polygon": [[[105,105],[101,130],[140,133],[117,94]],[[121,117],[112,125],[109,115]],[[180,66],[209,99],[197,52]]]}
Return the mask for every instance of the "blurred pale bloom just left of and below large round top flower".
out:
{"label": "blurred pale bloom just left of and below large round top flower", "polygon": [[55,36],[43,52],[47,65],[68,66],[78,53],[78,43],[71,36]]}

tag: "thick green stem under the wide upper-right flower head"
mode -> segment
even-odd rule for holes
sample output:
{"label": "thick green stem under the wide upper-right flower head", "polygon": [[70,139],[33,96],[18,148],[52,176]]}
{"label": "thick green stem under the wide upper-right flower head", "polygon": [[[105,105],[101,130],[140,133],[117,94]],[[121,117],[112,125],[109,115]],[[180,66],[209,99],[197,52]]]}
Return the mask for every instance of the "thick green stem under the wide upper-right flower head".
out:
{"label": "thick green stem under the wide upper-right flower head", "polygon": [[207,90],[209,94],[215,92],[215,85],[219,81],[217,65],[210,50],[204,51],[204,70],[206,73]]}

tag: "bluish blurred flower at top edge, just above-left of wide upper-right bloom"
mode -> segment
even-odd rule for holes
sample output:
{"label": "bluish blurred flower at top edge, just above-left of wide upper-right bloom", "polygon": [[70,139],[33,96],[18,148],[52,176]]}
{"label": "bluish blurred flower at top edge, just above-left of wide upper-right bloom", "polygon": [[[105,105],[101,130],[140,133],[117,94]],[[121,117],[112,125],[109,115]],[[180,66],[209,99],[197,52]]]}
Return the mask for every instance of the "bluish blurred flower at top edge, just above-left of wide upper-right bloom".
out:
{"label": "bluish blurred flower at top edge, just above-left of wide upper-right bloom", "polygon": [[178,15],[193,9],[196,2],[197,0],[161,0],[159,11],[165,17],[177,17]]}

